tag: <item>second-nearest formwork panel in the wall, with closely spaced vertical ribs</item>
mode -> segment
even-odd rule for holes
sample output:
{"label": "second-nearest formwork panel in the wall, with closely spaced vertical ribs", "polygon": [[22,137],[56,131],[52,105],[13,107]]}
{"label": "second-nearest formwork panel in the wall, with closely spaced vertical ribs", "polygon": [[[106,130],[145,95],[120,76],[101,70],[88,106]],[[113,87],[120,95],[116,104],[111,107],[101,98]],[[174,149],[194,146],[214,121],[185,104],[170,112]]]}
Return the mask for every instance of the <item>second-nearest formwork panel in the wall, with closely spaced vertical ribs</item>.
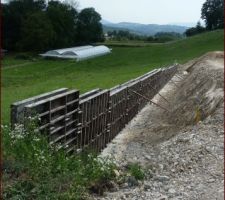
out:
{"label": "second-nearest formwork panel in the wall, with closely spaced vertical ribs", "polygon": [[100,151],[107,144],[107,113],[109,91],[99,91],[79,103],[79,142],[78,148],[92,148]]}

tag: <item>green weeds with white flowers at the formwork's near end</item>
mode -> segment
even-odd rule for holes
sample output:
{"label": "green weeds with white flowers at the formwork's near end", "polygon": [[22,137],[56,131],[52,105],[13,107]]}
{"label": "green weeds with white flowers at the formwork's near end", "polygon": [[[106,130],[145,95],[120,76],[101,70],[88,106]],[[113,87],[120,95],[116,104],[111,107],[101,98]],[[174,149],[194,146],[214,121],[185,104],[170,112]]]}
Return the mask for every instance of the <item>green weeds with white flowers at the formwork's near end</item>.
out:
{"label": "green weeds with white flowers at the formwork's near end", "polygon": [[68,156],[34,133],[35,124],[9,127],[2,127],[3,199],[86,199],[118,180],[112,159],[90,151]]}

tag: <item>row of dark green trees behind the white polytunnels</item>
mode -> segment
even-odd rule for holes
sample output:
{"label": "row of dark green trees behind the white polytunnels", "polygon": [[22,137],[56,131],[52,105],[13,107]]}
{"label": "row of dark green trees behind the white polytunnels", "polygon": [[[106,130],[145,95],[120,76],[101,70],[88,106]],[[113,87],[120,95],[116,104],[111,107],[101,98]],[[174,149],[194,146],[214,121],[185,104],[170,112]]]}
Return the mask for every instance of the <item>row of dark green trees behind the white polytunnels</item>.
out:
{"label": "row of dark green trees behind the white polytunnels", "polygon": [[74,5],[55,0],[2,4],[3,47],[43,51],[102,41],[101,16],[94,8],[78,12]]}

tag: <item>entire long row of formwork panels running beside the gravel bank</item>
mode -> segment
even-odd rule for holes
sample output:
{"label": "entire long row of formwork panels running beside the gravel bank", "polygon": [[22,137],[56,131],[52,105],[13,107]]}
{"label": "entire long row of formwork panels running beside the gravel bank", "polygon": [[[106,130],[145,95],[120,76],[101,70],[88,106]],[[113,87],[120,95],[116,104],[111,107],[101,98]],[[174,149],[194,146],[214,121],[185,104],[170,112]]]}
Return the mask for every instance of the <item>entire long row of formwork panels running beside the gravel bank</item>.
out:
{"label": "entire long row of formwork panels running beside the gravel bank", "polygon": [[68,153],[90,148],[101,151],[176,73],[177,66],[160,68],[109,90],[45,93],[11,105],[11,123],[26,125],[39,118],[38,130]]}

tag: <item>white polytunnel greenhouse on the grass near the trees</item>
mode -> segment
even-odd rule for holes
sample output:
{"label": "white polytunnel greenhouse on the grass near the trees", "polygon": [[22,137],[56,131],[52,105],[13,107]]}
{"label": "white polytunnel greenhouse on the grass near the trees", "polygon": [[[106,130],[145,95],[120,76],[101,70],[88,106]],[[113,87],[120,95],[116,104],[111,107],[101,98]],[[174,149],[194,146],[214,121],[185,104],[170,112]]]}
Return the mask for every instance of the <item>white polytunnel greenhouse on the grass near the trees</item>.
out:
{"label": "white polytunnel greenhouse on the grass near the trees", "polygon": [[102,56],[111,52],[111,49],[104,45],[100,46],[79,46],[66,49],[57,49],[47,51],[44,54],[40,54],[43,57],[56,57],[56,58],[70,58],[77,61]]}

